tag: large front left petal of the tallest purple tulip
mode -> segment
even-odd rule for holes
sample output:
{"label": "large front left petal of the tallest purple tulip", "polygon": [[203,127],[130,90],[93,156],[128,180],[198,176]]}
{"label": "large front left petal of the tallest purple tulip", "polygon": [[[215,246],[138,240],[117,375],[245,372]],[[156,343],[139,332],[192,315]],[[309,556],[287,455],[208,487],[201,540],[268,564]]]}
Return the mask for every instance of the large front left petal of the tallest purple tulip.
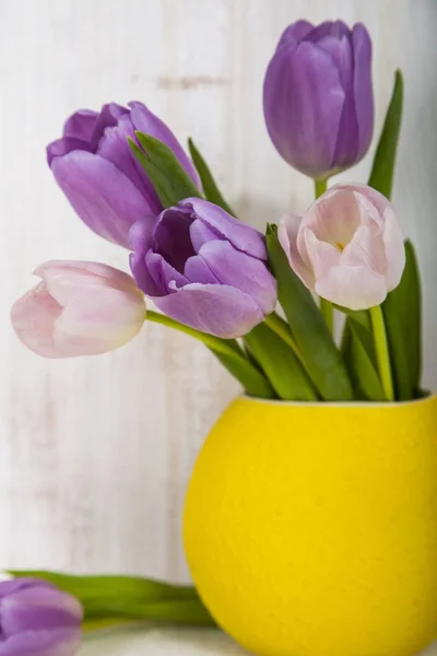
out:
{"label": "large front left petal of the tallest purple tulip", "polygon": [[271,60],[263,89],[269,134],[288,164],[316,178],[332,168],[344,105],[331,56],[303,42]]}

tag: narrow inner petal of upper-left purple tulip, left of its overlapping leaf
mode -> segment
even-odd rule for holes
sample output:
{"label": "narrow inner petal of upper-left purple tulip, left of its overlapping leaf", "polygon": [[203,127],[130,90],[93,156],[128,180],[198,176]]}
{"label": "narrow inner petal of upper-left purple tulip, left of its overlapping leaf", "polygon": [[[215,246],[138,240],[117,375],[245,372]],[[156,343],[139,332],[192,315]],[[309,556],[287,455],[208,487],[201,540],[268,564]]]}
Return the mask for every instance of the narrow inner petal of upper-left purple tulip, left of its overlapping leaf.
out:
{"label": "narrow inner petal of upper-left purple tulip, left of its overlapping leaf", "polygon": [[119,118],[116,126],[105,129],[105,133],[97,148],[97,154],[105,160],[109,160],[126,173],[149,201],[153,213],[157,215],[163,207],[149,177],[144,174],[141,166],[137,165],[137,160],[128,143],[128,137],[137,141],[130,115],[125,114]]}

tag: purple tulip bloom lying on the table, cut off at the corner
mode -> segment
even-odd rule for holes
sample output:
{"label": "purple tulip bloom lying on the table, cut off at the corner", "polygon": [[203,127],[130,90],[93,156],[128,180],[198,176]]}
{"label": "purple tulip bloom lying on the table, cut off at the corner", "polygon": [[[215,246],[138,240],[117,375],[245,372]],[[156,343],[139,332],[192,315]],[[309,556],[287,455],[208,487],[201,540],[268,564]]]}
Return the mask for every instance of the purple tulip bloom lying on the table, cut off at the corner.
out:
{"label": "purple tulip bloom lying on the table, cut off at the corner", "polygon": [[35,578],[0,583],[0,656],[73,656],[81,642],[82,607]]}

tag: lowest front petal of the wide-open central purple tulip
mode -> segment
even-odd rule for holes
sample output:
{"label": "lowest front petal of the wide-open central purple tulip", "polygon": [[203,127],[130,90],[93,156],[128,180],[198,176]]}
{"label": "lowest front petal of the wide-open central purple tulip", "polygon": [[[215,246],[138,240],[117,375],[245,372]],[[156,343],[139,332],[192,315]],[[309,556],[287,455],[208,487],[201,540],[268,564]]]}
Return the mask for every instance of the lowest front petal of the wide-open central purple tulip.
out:
{"label": "lowest front petal of the wide-open central purple tulip", "polygon": [[243,337],[264,318],[251,296],[227,285],[193,283],[152,300],[169,317],[224,339]]}

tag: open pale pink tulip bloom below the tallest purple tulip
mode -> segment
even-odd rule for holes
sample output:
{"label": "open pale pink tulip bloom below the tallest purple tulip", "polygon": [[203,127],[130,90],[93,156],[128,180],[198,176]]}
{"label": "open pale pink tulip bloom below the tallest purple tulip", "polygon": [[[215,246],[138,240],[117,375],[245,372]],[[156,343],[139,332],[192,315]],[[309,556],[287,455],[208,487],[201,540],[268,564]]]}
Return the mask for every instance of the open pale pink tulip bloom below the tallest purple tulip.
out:
{"label": "open pale pink tulip bloom below the tallest purple tulip", "polygon": [[283,216],[279,238],[304,284],[350,309],[380,305],[405,266],[393,206],[366,185],[335,185],[304,216]]}

